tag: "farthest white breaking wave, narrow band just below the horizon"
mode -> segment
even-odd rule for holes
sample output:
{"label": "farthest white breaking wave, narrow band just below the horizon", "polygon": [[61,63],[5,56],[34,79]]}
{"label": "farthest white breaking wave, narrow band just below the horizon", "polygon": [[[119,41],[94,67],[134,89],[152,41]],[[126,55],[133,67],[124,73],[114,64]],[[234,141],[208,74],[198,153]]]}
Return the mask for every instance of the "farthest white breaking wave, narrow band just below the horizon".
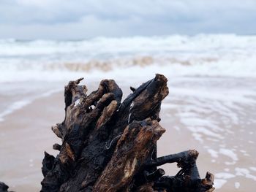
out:
{"label": "farthest white breaking wave, narrow band just below the horizon", "polygon": [[88,55],[165,53],[165,52],[214,52],[233,50],[255,51],[256,36],[236,34],[199,34],[193,37],[172,35],[165,37],[97,37],[80,41],[36,39],[18,41],[0,39],[0,55],[47,55],[52,53],[83,53]]}

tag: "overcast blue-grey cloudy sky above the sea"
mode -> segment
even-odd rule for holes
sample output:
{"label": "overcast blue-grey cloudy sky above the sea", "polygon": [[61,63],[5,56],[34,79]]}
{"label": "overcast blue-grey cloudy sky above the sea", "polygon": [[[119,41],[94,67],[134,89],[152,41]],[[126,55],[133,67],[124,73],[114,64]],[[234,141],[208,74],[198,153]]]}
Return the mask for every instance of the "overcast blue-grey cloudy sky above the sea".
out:
{"label": "overcast blue-grey cloudy sky above the sea", "polygon": [[256,34],[256,0],[0,0],[0,39]]}

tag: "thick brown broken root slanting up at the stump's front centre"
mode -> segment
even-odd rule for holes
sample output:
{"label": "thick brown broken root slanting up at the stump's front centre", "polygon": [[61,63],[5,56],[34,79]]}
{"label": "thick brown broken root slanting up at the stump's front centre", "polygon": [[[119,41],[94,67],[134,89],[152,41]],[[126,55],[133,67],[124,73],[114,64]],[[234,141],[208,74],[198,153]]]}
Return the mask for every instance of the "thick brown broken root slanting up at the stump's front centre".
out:
{"label": "thick brown broken root slanting up at the stump's front centre", "polygon": [[[124,130],[113,156],[94,185],[94,191],[128,188],[132,177],[149,155],[149,149],[165,132],[157,120],[133,121]],[[132,142],[131,142],[132,141]]]}

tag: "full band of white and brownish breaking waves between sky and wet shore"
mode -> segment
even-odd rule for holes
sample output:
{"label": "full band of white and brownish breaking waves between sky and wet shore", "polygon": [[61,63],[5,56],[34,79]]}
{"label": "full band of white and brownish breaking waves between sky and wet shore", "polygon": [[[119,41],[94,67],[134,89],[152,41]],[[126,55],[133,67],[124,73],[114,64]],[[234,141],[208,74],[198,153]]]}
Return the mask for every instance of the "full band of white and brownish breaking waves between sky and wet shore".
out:
{"label": "full band of white and brownish breaking waves between sky and wet shore", "polygon": [[[256,36],[97,37],[79,41],[0,40],[0,82],[58,79],[56,74],[256,77]],[[155,70],[154,72],[152,70]],[[138,73],[138,72],[139,73]],[[118,73],[118,74],[117,74]]]}

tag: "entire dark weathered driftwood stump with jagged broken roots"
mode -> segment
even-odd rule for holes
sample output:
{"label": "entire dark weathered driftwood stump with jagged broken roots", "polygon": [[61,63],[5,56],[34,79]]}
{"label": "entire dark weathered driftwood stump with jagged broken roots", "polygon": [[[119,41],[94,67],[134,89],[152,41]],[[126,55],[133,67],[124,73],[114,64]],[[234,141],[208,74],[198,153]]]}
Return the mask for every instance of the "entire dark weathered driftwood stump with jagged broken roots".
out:
{"label": "entire dark weathered driftwood stump with jagged broken roots", "polygon": [[[65,119],[53,132],[62,144],[54,157],[45,152],[41,191],[213,191],[213,175],[200,179],[196,150],[157,158],[161,102],[168,94],[167,79],[122,91],[114,80],[102,80],[97,91],[86,94],[82,78],[65,87]],[[178,163],[181,171],[164,177],[157,166]]]}

